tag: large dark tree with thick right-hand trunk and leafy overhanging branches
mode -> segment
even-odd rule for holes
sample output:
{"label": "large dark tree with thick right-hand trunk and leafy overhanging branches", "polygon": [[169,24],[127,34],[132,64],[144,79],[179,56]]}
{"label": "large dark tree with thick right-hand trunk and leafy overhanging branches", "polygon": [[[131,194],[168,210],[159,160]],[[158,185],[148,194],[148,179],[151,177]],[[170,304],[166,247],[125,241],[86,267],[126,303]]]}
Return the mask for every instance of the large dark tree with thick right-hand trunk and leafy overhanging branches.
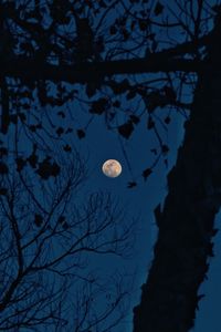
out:
{"label": "large dark tree with thick right-hand trunk and leafy overhanging branches", "polygon": [[[107,128],[128,139],[143,117],[158,142],[156,160],[143,173],[147,179],[160,159],[167,165],[160,126],[169,126],[172,112],[186,115],[168,196],[155,210],[155,259],[134,331],[188,331],[220,207],[219,1],[3,1],[1,13],[3,134],[19,122],[32,139],[42,132],[45,142],[62,139],[73,127],[82,139],[92,118],[104,115]],[[92,118],[84,127],[66,127],[71,101],[87,105]],[[66,105],[59,112],[63,126],[52,121],[49,105]],[[136,185],[133,179],[128,187]]]}

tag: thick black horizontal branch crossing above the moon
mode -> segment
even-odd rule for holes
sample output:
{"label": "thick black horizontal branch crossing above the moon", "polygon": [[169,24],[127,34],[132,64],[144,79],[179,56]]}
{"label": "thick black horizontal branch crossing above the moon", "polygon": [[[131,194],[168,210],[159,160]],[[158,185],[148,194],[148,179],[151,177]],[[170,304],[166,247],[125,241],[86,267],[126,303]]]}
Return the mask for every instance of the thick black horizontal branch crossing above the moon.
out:
{"label": "thick black horizontal branch crossing above the moon", "polygon": [[[202,64],[201,64],[202,65]],[[6,76],[22,81],[50,80],[69,83],[94,82],[96,77],[116,74],[139,74],[157,72],[198,72],[199,63],[193,60],[165,59],[164,54],[152,54],[148,59],[118,60],[74,65],[53,65],[34,60],[15,58],[1,61],[0,71]]]}

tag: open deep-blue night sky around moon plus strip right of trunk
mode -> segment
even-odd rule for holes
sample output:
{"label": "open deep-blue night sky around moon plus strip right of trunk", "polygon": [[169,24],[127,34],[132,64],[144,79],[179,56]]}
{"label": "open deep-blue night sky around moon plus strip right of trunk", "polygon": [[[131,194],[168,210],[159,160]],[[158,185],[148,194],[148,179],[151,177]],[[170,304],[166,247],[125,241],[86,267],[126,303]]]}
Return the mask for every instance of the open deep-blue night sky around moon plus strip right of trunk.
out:
{"label": "open deep-blue night sky around moon plus strip right of trunk", "polygon": [[[166,112],[166,111],[160,111]],[[159,203],[164,203],[167,194],[167,173],[176,163],[177,148],[182,143],[185,118],[180,114],[173,114],[169,126],[167,142],[170,146],[168,156],[168,169],[160,162],[155,172],[145,183],[140,174],[146,165],[152,158],[149,148],[156,145],[156,137],[146,129],[146,124],[140,123],[137,131],[131,135],[128,142],[123,139],[123,146],[126,147],[127,156],[131,165],[133,175],[137,178],[138,186],[131,189],[127,188],[127,183],[131,180],[131,174],[127,167],[122,145],[118,136],[109,133],[105,126],[103,118],[98,117],[87,132],[85,141],[78,142],[77,146],[85,153],[90,154],[90,169],[87,187],[85,190],[108,190],[113,193],[122,206],[130,217],[139,216],[137,224],[137,237],[133,257],[123,260],[116,258],[105,258],[101,260],[102,270],[112,273],[115,268],[124,266],[128,273],[136,270],[135,292],[131,297],[131,309],[139,302],[140,286],[145,282],[147,270],[152,259],[152,247],[155,243],[157,227],[155,226],[154,209]],[[101,139],[102,137],[102,139]],[[146,153],[144,153],[146,151]],[[108,158],[116,158],[123,166],[123,173],[117,178],[105,177],[102,173],[102,164]],[[217,225],[219,227],[219,215],[217,216]],[[215,257],[211,259],[208,281],[206,281],[199,293],[206,293],[200,302],[200,311],[197,311],[194,332],[219,332],[219,299],[220,299],[220,277],[221,268],[219,256],[221,253],[221,239],[218,232],[215,237]],[[99,261],[99,258],[97,258]],[[99,264],[99,262],[97,262]],[[109,268],[112,266],[112,269]],[[131,331],[133,312],[126,319],[126,323],[118,326],[117,331]]]}

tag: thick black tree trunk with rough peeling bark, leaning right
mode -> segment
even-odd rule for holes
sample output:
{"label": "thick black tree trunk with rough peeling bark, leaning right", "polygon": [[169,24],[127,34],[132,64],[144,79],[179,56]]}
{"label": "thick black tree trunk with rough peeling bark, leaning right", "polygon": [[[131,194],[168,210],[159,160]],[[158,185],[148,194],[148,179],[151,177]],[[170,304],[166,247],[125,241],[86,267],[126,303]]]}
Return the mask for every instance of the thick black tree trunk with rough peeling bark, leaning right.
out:
{"label": "thick black tree trunk with rough peeling bark, leaning right", "polygon": [[213,30],[199,73],[191,115],[168,195],[156,215],[155,258],[134,309],[134,332],[187,332],[193,325],[198,289],[213,256],[211,238],[221,205],[221,51]]}

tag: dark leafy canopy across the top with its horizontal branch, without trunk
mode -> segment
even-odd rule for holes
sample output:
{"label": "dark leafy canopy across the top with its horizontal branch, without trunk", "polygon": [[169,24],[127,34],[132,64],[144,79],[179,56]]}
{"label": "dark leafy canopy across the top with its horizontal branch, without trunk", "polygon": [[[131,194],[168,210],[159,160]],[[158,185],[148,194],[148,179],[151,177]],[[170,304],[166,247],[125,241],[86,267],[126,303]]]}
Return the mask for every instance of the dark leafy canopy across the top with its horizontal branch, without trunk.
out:
{"label": "dark leafy canopy across the top with its horizontal branch, without trunk", "polygon": [[[31,136],[48,123],[54,136],[74,132],[82,139],[93,117],[104,115],[107,128],[128,139],[144,120],[156,132],[156,163],[166,159],[169,149],[161,132],[173,112],[188,116],[196,73],[207,62],[206,44],[219,11],[214,4],[3,1],[2,133],[19,118]],[[73,121],[67,127],[76,116],[71,105],[88,110],[83,127]],[[158,118],[155,111],[165,106]],[[61,107],[63,125],[54,124],[49,107]]]}

